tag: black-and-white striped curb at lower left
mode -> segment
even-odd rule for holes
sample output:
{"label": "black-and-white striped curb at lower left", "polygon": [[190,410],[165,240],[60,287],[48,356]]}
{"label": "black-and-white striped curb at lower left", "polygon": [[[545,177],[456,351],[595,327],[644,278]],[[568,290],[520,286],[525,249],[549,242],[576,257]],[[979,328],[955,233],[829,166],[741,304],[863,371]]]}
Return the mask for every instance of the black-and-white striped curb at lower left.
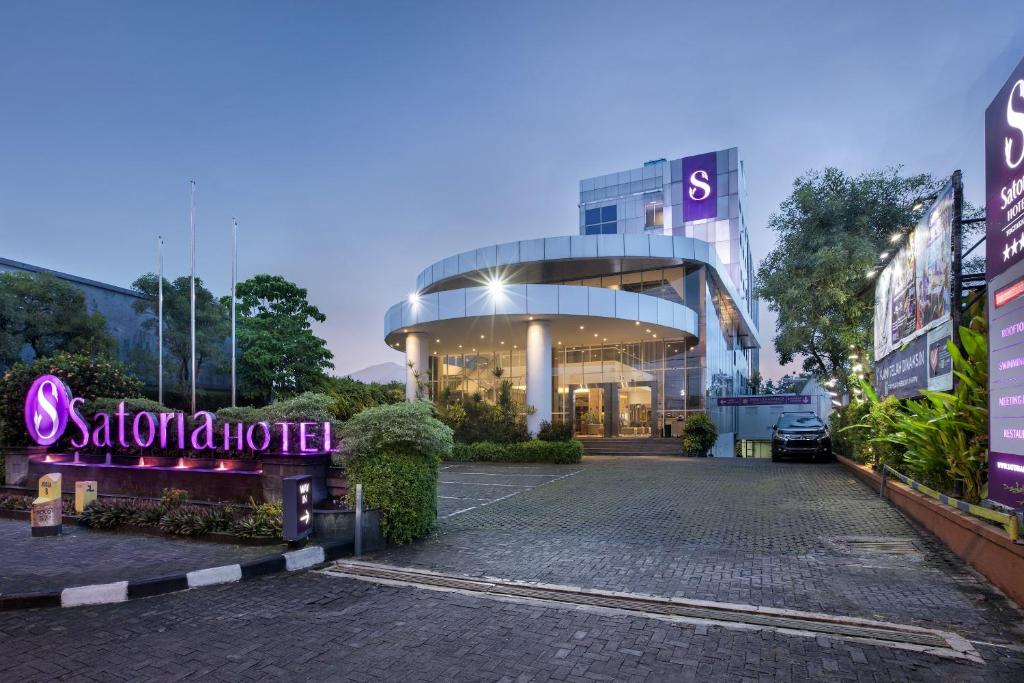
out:
{"label": "black-and-white striped curb at lower left", "polygon": [[32,593],[0,593],[0,611],[39,607],[79,607],[126,602],[155,595],[177,593],[193,588],[232,584],[284,571],[300,571],[351,555],[352,543],[336,541],[307,546],[287,553],[266,555],[254,560],[194,571],[133,581],[118,581],[94,586],[72,586]]}

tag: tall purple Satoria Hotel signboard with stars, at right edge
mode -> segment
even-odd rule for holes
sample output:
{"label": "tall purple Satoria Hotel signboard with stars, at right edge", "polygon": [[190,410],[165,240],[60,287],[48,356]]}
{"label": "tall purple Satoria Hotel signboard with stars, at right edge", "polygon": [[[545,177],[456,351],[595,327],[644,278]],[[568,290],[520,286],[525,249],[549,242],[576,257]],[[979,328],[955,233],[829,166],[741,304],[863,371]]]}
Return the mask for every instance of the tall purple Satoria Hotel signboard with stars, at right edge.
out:
{"label": "tall purple Satoria Hotel signboard with stars, at right edge", "polygon": [[988,498],[1024,508],[1024,59],[985,110]]}

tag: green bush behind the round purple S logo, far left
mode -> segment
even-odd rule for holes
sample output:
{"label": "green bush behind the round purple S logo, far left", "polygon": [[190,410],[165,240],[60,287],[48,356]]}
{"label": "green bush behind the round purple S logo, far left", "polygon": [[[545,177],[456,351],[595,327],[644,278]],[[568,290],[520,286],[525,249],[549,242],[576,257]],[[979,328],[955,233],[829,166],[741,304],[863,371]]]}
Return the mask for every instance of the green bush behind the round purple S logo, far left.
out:
{"label": "green bush behind the round purple S logo, far left", "polygon": [[[14,365],[0,382],[0,440],[4,445],[30,445],[25,429],[25,394],[40,375],[54,375],[71,387],[72,395],[94,401],[100,396],[138,396],[142,383],[118,362],[103,357],[57,352],[29,365]],[[72,430],[69,430],[72,431]],[[67,447],[65,436],[58,447]]]}

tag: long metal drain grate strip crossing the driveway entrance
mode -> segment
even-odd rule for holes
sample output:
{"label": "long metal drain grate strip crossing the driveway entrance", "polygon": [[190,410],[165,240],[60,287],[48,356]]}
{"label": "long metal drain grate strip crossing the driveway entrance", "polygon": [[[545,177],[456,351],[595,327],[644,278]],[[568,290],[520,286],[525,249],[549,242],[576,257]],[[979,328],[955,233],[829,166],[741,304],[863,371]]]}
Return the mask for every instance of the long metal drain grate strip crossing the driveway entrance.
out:
{"label": "long metal drain grate strip crossing the driveway entrance", "polygon": [[924,649],[940,656],[981,661],[981,657],[970,643],[955,634],[885,622],[871,622],[868,620],[753,606],[740,607],[685,600],[669,600],[646,595],[585,591],[569,587],[523,584],[498,580],[477,580],[344,560],[334,563],[323,571],[376,583],[396,583],[420,588],[464,591],[503,598],[545,600],[572,605],[620,609],[651,616],[717,622],[723,626],[744,625],[787,632],[800,632],[802,634],[810,633],[839,638],[870,640],[892,647]]}

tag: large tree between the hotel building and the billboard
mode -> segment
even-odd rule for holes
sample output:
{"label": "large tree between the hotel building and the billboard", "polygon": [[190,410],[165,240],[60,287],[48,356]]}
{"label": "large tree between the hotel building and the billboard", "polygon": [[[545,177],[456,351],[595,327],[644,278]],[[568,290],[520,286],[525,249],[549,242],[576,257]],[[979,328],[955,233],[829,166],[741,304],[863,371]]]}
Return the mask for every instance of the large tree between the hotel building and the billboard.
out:
{"label": "large tree between the hotel building and the billboard", "polygon": [[810,172],[768,220],[777,246],[758,268],[757,294],[778,314],[779,361],[846,386],[849,349],[868,348],[872,283],[865,275],[891,238],[913,225],[915,200],[945,179],[886,169],[851,177],[836,168]]}

